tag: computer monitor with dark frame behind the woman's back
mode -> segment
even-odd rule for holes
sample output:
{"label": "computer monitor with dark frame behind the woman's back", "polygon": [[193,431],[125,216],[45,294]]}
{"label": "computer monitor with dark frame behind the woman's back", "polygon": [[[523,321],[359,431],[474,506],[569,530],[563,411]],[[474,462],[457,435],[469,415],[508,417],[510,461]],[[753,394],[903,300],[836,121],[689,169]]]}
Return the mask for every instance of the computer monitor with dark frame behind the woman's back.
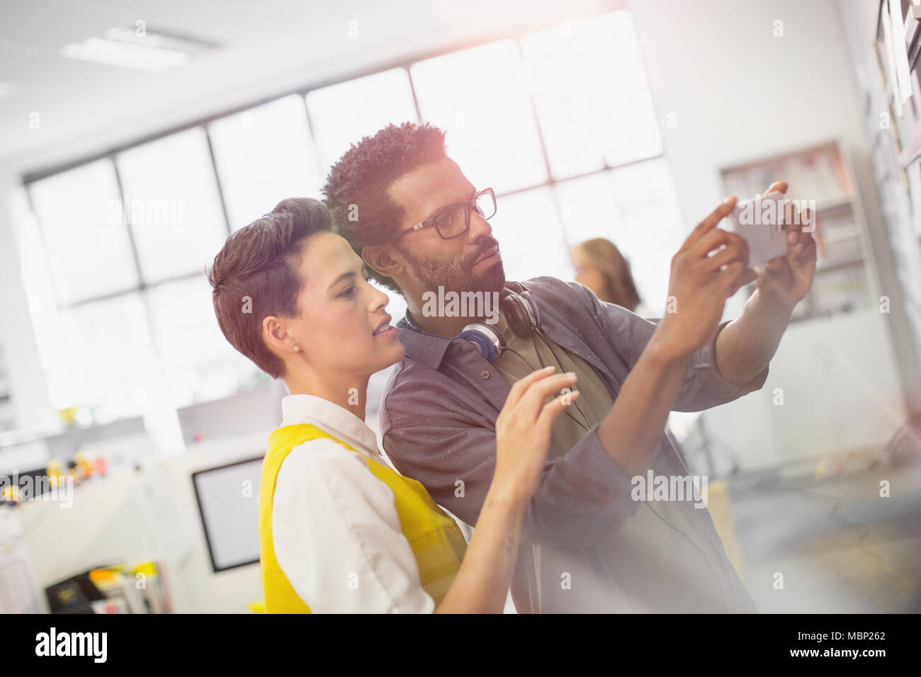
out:
{"label": "computer monitor with dark frame behind the woman's back", "polygon": [[262,456],[192,473],[211,566],[226,571],[259,562]]}

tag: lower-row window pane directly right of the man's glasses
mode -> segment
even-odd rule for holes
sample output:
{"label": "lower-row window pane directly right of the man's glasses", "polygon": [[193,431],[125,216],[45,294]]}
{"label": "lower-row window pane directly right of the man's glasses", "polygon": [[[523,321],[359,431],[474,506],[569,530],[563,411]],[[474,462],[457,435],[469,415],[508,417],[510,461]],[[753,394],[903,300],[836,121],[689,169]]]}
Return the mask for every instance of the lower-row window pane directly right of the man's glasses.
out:
{"label": "lower-row window pane directly right of the man's glasses", "polygon": [[573,278],[563,228],[549,188],[498,198],[497,211],[489,224],[499,240],[506,279],[521,281],[539,275]]}

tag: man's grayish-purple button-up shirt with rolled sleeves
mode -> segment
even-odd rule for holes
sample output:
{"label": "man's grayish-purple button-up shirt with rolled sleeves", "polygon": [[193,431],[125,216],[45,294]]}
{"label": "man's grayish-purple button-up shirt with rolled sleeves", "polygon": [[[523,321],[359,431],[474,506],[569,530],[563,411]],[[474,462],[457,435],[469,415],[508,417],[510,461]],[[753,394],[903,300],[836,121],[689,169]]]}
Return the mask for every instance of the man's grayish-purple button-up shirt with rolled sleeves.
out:
{"label": "man's grayish-purple button-up shirt with rolled sleeves", "polygon": [[[656,324],[575,282],[537,277],[526,285],[544,336],[589,362],[616,400]],[[405,356],[380,406],[384,449],[400,473],[475,526],[509,386],[472,344],[397,326]],[[723,379],[715,344],[694,353],[673,410],[701,411],[764,385],[767,368],[741,386]],[[664,431],[652,467],[690,474]],[[519,613],[756,612],[709,510],[687,500],[635,501],[633,488],[597,425],[568,451],[550,450],[521,530],[512,584]]]}

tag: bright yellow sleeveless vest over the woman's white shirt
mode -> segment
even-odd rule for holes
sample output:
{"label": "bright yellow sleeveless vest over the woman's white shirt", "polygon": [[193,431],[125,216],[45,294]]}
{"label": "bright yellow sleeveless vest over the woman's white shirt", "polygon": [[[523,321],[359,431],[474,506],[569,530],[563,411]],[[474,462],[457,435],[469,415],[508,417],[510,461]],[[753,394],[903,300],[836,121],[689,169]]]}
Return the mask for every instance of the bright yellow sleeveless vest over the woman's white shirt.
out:
{"label": "bright yellow sleeveless vest over the woman's white shirt", "polygon": [[[259,552],[267,613],[311,613],[307,601],[300,599],[275,559],[272,503],[275,478],[282,461],[297,445],[316,438],[333,439],[345,449],[360,454],[341,439],[309,424],[280,427],[269,436],[269,449],[262,460],[259,487]],[[309,453],[309,449],[299,449],[298,453]],[[422,587],[437,605],[448,592],[467,548],[457,522],[438,508],[422,484],[394,473],[388,466],[371,461],[363,454],[361,458],[375,477],[391,487],[394,506],[400,517],[400,529],[413,548]]]}

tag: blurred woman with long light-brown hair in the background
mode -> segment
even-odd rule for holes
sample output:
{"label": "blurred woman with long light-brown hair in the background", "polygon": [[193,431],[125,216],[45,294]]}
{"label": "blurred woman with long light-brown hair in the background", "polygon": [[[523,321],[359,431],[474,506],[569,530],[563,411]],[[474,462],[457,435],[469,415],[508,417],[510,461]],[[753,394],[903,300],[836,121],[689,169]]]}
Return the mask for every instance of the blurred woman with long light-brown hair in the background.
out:
{"label": "blurred woman with long light-brown hair in the background", "polygon": [[588,286],[596,297],[642,317],[652,317],[636,293],[630,264],[611,240],[593,238],[580,242],[573,247],[571,258],[576,281]]}

